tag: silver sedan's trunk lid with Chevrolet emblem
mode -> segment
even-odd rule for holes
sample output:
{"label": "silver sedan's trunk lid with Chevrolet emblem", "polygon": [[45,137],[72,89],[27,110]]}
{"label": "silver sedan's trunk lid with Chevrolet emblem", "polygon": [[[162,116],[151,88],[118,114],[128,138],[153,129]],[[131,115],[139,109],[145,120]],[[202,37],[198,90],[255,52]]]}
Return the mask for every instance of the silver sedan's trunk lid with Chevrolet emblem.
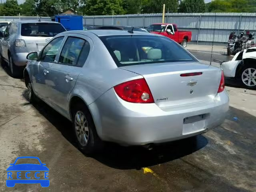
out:
{"label": "silver sedan's trunk lid with Chevrolet emblem", "polygon": [[[219,68],[199,62],[155,63],[120,67],[142,75],[160,107],[187,105],[212,100],[220,84]],[[181,74],[202,72],[196,76]]]}

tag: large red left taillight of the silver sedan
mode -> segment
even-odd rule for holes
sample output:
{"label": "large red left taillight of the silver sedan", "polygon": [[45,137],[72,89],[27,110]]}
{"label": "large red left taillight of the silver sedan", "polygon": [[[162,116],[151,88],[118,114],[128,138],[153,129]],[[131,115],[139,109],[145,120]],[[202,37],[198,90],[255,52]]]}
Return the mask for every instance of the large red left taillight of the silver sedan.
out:
{"label": "large red left taillight of the silver sedan", "polygon": [[154,98],[144,78],[121,83],[114,86],[114,90],[127,102],[154,103]]}

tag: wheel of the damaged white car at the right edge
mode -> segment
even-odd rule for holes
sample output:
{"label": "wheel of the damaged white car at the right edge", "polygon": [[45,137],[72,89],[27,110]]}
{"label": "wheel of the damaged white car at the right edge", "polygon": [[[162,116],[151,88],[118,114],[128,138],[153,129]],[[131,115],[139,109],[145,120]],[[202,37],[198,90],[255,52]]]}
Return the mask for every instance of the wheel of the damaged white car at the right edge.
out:
{"label": "wheel of the damaged white car at the right edge", "polygon": [[256,89],[256,66],[254,64],[248,64],[242,68],[240,82],[247,89]]}

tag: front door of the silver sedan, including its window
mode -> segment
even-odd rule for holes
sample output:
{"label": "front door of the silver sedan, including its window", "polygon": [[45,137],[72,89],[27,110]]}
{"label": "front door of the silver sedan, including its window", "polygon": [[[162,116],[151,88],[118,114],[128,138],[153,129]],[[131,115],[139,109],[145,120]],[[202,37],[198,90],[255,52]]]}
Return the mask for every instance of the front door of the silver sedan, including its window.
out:
{"label": "front door of the silver sedan, including its window", "polygon": [[45,101],[50,102],[49,91],[53,86],[54,76],[51,72],[56,55],[60,50],[64,36],[55,38],[44,47],[39,55],[36,65],[33,65],[33,88],[36,94]]}

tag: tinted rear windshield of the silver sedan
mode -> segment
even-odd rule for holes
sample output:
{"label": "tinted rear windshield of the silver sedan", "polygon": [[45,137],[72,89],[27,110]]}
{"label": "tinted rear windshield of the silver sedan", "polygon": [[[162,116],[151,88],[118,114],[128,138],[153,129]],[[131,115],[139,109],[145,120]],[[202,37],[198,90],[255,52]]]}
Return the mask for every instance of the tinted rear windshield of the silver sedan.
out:
{"label": "tinted rear windshield of the silver sedan", "polygon": [[164,36],[120,35],[100,39],[117,66],[196,61],[184,48]]}

